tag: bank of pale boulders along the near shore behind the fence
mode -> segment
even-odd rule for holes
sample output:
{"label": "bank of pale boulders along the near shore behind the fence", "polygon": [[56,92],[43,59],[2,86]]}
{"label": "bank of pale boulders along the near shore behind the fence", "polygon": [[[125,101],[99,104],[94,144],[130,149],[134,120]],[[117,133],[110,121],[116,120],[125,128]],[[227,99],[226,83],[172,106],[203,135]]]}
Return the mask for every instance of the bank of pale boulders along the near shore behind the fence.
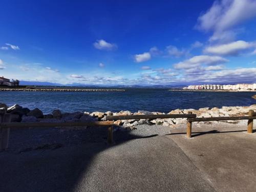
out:
{"label": "bank of pale boulders along the near shore behind the fence", "polygon": [[[222,108],[201,108],[185,109],[185,110],[173,110],[168,114],[187,114],[192,112],[197,117],[226,117],[226,116],[246,116],[249,110],[256,111],[256,104],[250,106],[223,106]],[[130,111],[120,111],[118,113],[108,112],[75,112],[75,113],[62,113],[60,110],[54,110],[51,114],[43,114],[38,108],[30,110],[23,108],[22,106],[15,104],[13,106],[7,106],[4,103],[0,103],[0,114],[9,113],[12,114],[12,122],[88,122],[88,121],[104,121],[106,116],[118,116],[118,115],[160,115],[161,112],[148,112],[138,111],[132,113]],[[175,127],[179,124],[185,124],[186,118],[176,119],[129,119],[129,120],[117,120],[114,121],[115,130],[133,129],[136,125],[141,124],[157,124],[163,126]],[[245,121],[243,121],[245,122]],[[199,124],[218,124],[218,123],[241,123],[239,120],[229,121],[207,121],[207,122],[195,122]]]}

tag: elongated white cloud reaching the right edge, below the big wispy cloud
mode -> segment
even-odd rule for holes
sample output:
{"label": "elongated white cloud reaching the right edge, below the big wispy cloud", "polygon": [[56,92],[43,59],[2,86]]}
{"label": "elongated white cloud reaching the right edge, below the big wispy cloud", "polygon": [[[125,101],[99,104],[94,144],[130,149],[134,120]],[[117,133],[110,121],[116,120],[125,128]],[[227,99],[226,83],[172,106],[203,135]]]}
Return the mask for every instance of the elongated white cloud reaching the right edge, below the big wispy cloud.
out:
{"label": "elongated white cloud reaching the right edge, below the big wispy cloud", "polygon": [[228,44],[206,47],[204,52],[217,55],[238,55],[241,51],[255,47],[255,43],[238,40]]}

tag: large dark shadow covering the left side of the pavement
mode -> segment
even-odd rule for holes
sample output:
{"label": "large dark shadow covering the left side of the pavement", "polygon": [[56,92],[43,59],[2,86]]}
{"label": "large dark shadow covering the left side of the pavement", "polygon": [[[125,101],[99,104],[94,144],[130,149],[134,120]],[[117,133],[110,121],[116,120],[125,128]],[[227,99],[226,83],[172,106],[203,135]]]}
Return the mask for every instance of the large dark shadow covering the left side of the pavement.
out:
{"label": "large dark shadow covering the left side of the pavement", "polygon": [[0,191],[73,191],[100,152],[158,136],[118,131],[115,145],[108,145],[106,134],[106,127],[11,130],[9,150],[0,153]]}

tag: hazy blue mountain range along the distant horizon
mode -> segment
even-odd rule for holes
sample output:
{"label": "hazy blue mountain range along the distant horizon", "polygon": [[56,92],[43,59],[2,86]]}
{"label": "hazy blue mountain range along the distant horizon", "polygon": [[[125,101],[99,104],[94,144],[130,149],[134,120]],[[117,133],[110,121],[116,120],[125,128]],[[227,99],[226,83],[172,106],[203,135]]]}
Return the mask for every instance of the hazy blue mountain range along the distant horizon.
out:
{"label": "hazy blue mountain range along the distant horizon", "polygon": [[166,88],[166,89],[181,89],[187,85],[184,86],[172,86],[172,85],[145,85],[145,86],[139,86],[139,85],[108,85],[108,84],[79,84],[79,83],[72,83],[72,84],[60,84],[60,83],[53,83],[53,82],[42,82],[42,81],[20,81],[20,86],[65,86],[65,87],[94,87],[94,88],[102,88],[102,87],[111,87],[111,88]]}

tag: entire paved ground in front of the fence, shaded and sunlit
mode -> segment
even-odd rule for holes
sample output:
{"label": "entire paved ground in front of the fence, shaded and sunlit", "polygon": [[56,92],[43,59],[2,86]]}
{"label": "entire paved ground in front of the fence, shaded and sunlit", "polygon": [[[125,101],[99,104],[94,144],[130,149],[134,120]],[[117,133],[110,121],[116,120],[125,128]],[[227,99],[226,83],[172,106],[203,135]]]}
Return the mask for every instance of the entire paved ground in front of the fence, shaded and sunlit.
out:
{"label": "entire paved ground in front of the fence, shaded and sunlit", "polygon": [[0,191],[256,191],[256,134],[203,125],[186,139],[184,128],[118,131],[113,146],[104,128],[14,130]]}

